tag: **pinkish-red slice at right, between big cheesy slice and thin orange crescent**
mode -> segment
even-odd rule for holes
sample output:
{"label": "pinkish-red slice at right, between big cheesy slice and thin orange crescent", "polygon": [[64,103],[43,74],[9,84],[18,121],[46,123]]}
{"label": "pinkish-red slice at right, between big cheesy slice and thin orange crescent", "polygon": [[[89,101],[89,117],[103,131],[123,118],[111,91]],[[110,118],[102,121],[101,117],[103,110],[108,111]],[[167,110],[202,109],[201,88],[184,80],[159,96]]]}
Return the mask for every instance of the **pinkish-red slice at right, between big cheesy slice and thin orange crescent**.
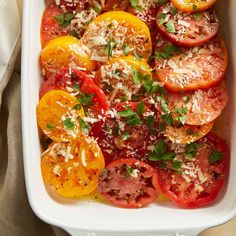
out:
{"label": "pinkish-red slice at right, between big cheesy slice and thin orange crescent", "polygon": [[228,102],[228,92],[224,82],[208,90],[196,90],[183,94],[168,93],[170,111],[184,111],[184,124],[203,125],[214,121]]}

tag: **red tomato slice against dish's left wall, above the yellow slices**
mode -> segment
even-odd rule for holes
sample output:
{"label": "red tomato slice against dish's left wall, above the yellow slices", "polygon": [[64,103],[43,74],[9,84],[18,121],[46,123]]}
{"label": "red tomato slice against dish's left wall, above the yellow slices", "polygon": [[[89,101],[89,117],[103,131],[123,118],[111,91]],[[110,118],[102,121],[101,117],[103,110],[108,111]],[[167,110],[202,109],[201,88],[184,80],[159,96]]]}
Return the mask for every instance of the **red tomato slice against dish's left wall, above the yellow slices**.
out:
{"label": "red tomato slice against dish's left wall, above the yellow slices", "polygon": [[41,22],[42,47],[44,47],[50,40],[68,34],[67,29],[61,28],[54,18],[61,14],[63,14],[63,11],[55,5],[50,5],[45,9]]}

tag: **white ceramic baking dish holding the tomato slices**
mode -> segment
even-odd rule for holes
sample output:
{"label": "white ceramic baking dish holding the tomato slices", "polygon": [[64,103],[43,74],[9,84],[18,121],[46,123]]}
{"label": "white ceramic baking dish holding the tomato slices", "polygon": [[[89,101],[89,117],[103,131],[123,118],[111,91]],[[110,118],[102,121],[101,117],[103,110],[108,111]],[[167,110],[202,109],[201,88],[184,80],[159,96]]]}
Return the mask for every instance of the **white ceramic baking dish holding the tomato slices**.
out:
{"label": "white ceramic baking dish holding the tomato slices", "polygon": [[[220,0],[219,0],[220,1]],[[152,204],[143,209],[120,209],[99,202],[65,200],[48,194],[40,170],[41,147],[36,122],[40,88],[40,21],[43,0],[24,0],[22,49],[22,125],[25,179],[30,205],[47,223],[64,228],[72,235],[197,235],[223,224],[236,215],[236,1],[221,0],[225,37],[229,47],[230,129],[226,138],[231,146],[228,184],[218,200],[209,207],[184,210],[171,203]],[[231,42],[231,44],[230,44]]]}

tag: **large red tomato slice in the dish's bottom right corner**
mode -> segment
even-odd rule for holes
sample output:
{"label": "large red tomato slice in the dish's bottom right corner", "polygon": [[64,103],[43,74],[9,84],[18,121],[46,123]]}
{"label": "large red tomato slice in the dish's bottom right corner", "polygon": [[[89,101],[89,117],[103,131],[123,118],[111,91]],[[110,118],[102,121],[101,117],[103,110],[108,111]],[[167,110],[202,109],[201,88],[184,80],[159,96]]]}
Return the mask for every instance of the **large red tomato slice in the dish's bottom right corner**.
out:
{"label": "large red tomato slice in the dish's bottom right corner", "polygon": [[224,140],[209,133],[194,146],[170,144],[177,155],[158,171],[164,194],[183,208],[212,203],[228,174],[229,152]]}

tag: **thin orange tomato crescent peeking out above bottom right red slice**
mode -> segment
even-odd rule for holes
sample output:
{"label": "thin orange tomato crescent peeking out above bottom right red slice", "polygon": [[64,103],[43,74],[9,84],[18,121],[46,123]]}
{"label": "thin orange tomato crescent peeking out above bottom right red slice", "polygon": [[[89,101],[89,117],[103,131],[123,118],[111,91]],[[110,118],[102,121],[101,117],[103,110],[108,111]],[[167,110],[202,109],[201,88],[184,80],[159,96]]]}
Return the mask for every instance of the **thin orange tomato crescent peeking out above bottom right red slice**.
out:
{"label": "thin orange tomato crescent peeking out above bottom right red slice", "polygon": [[164,135],[173,143],[187,144],[195,142],[208,134],[213,127],[214,122],[205,125],[184,125],[180,128],[167,126]]}

